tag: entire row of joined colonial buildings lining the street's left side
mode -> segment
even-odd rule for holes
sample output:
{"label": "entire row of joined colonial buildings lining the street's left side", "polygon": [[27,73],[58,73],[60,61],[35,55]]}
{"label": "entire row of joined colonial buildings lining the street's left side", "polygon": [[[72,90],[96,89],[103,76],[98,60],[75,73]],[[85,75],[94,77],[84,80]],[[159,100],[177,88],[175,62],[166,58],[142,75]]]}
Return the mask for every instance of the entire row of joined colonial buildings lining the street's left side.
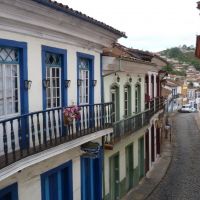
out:
{"label": "entire row of joined colonial buildings lining the street's left side", "polygon": [[160,152],[153,55],[109,55],[125,33],[49,0],[2,0],[0,21],[0,199],[124,196]]}

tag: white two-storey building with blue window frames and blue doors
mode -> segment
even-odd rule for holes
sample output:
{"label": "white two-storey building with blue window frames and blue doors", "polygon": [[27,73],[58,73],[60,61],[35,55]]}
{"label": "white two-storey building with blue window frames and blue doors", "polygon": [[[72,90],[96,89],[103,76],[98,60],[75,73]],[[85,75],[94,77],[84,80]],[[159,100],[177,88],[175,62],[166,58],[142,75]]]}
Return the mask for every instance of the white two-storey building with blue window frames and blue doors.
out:
{"label": "white two-storey building with blue window frames and blue doors", "polygon": [[102,199],[101,53],[125,34],[47,0],[1,0],[0,21],[0,199]]}

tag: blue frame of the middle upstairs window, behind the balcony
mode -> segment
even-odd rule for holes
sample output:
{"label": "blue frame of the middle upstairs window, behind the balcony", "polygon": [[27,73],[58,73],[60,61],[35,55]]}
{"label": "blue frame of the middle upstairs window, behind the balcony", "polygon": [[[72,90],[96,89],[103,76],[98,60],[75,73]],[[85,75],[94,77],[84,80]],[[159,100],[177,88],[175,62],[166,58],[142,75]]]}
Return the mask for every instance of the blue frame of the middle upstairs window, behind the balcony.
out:
{"label": "blue frame of the middle upstairs window, behind the balcony", "polygon": [[[67,50],[42,45],[42,80],[46,79],[45,53],[61,55],[61,107],[67,106],[67,88],[64,81],[67,80]],[[46,88],[42,85],[43,109],[46,110]]]}

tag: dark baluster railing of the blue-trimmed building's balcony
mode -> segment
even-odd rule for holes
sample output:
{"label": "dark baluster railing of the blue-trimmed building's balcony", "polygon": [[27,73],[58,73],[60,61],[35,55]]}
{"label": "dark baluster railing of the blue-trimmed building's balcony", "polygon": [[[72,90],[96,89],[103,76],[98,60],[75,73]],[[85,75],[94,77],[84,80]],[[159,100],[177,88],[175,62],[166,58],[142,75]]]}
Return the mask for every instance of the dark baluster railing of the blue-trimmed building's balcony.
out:
{"label": "dark baluster railing of the blue-trimmed building's balcony", "polygon": [[28,156],[112,127],[112,103],[83,105],[80,120],[64,125],[63,109],[0,121],[0,169]]}

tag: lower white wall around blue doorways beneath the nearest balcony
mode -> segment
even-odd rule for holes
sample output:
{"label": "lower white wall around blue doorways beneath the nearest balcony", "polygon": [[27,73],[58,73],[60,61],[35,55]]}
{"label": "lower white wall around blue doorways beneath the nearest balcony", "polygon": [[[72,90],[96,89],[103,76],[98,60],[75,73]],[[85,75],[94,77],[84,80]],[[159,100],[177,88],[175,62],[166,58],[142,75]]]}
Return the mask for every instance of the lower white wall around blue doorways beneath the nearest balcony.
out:
{"label": "lower white wall around blue doorways beneath the nearest balcony", "polygon": [[[72,160],[73,169],[73,195],[74,199],[80,199],[80,155],[83,152],[80,147],[52,157],[48,160],[35,164],[15,175],[0,182],[0,188],[4,188],[12,183],[18,183],[19,200],[41,200],[41,179],[40,175],[59,165]],[[33,195],[34,194],[34,195]]]}

